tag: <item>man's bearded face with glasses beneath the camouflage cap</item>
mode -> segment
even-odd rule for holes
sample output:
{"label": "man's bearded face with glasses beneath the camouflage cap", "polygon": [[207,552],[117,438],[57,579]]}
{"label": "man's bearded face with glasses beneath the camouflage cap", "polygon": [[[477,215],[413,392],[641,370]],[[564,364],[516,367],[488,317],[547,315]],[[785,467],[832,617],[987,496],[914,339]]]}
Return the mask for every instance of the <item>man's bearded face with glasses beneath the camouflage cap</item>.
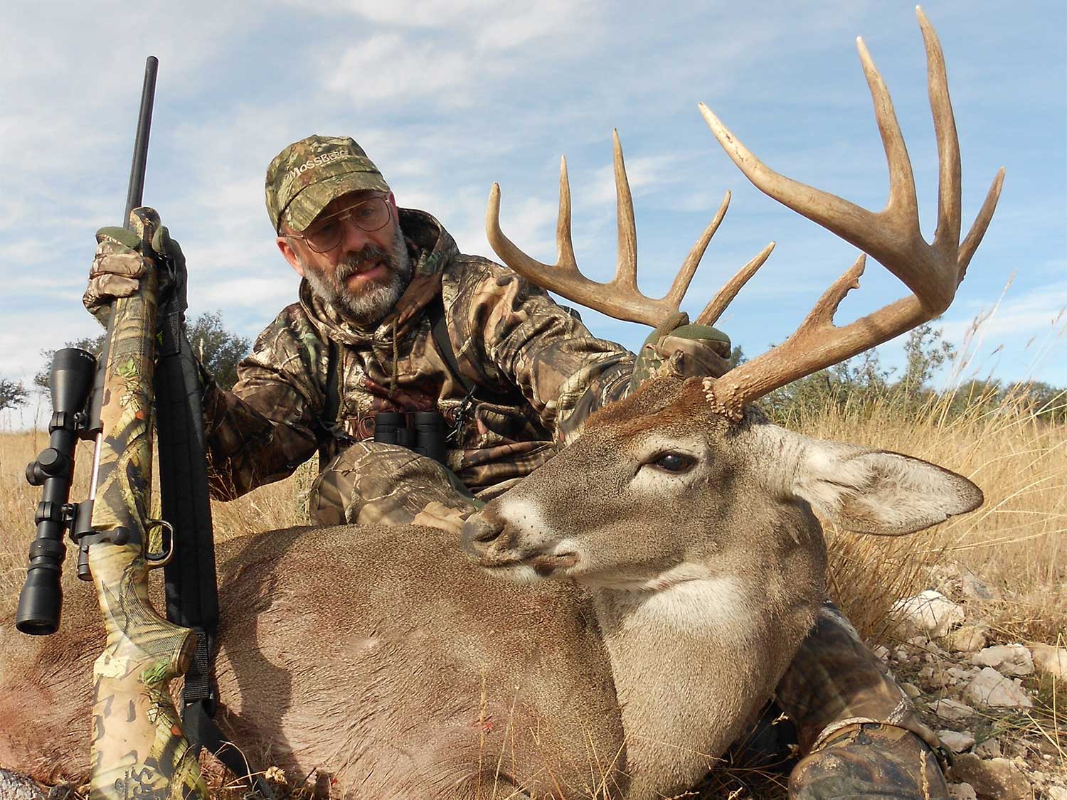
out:
{"label": "man's bearded face with glasses beneath the camouflage cap", "polygon": [[[387,222],[364,230],[367,218],[382,205]],[[323,247],[323,241],[329,244],[335,237],[336,244]],[[351,192],[336,197],[302,234],[283,227],[277,246],[316,295],[360,325],[388,314],[411,282],[411,259],[392,194]]]}

